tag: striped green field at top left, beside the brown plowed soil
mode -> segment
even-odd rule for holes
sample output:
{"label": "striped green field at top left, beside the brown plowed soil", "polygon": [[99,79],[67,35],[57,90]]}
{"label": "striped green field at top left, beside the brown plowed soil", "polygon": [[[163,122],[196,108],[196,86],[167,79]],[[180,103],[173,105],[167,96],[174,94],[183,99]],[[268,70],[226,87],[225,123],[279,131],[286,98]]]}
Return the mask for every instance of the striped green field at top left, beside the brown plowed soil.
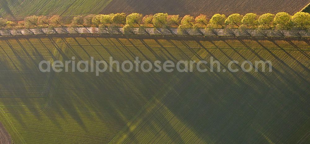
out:
{"label": "striped green field at top left, beside the brown plowed soil", "polygon": [[[112,0],[1,0],[0,16],[21,20],[29,15],[98,14]],[[14,20],[13,19],[13,20]]]}

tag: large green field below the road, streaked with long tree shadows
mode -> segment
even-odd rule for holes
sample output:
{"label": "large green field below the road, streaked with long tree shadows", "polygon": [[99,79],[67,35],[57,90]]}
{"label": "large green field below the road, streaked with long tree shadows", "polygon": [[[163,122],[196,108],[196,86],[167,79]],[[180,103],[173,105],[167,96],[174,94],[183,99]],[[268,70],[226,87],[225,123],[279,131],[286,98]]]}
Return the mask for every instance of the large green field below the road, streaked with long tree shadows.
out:
{"label": "large green field below the road, streaked with long tree shadows", "polygon": [[[306,144],[309,55],[309,41],[3,38],[0,121],[15,144]],[[222,69],[230,60],[270,60],[273,69],[100,76],[38,70],[41,60],[72,56],[175,63],[212,56]]]}

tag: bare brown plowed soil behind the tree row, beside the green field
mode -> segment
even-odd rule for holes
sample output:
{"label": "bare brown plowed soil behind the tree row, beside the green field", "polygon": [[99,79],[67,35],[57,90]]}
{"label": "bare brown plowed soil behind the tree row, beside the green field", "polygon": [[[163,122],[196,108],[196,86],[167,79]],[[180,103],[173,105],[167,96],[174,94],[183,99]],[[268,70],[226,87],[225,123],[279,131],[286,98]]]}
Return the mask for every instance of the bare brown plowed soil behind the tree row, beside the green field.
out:
{"label": "bare brown plowed soil behind the tree row, beside the green field", "polygon": [[132,13],[145,15],[158,12],[177,15],[205,14],[257,14],[288,12],[294,14],[310,3],[310,0],[113,0],[101,13]]}

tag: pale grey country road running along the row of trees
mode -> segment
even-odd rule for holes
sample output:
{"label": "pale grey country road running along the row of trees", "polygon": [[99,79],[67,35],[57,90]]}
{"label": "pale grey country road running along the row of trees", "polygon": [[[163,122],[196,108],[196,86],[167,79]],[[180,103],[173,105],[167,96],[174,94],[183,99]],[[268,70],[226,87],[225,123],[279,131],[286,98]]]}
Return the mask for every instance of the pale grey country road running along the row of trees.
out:
{"label": "pale grey country road running along the row of trees", "polygon": [[[113,28],[113,29],[103,29],[103,28],[95,28],[95,27],[88,27],[88,28],[55,28],[54,30],[51,30],[49,28],[31,28],[31,29],[12,29],[12,30],[0,30],[1,36],[12,36],[12,35],[33,35],[33,34],[51,34],[51,33],[114,33],[114,34],[123,34],[123,28]],[[202,34],[204,36],[214,36],[214,33],[211,33],[209,31],[206,31],[205,29],[201,28],[199,29],[200,32],[194,29],[187,29],[187,32],[189,35],[192,36],[201,36]],[[217,35],[219,36],[232,36],[230,33],[225,31],[224,29],[215,29]],[[253,30],[252,30],[253,31]],[[142,35],[182,35],[178,33],[178,28],[145,28],[144,30],[139,30],[139,28],[133,28],[132,30],[135,34],[142,34]],[[268,30],[267,33],[270,33],[273,36],[277,36],[277,31],[275,30]],[[289,30],[283,30],[283,33],[287,37],[294,36],[292,31]],[[304,37],[310,37],[310,33],[302,32]],[[244,33],[241,33],[238,29],[235,30],[236,36],[246,36]],[[183,34],[186,35],[186,34]],[[259,32],[253,31],[253,36],[262,36]]]}

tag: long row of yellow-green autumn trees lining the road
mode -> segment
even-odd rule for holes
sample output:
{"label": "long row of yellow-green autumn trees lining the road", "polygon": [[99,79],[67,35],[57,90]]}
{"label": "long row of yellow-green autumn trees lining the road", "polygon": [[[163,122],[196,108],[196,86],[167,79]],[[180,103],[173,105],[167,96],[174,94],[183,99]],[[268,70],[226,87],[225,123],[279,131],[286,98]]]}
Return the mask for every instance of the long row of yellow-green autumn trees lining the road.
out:
{"label": "long row of yellow-green autumn trees lining the road", "polygon": [[[132,13],[130,15],[117,13],[75,16],[70,24],[66,24],[64,18],[59,15],[51,17],[33,15],[26,17],[24,21],[19,21],[18,23],[0,18],[0,28],[8,32],[10,29],[26,28],[30,30],[30,28],[37,28],[41,33],[46,33],[43,29],[46,27],[54,33],[57,33],[56,28],[68,32],[68,27],[70,27],[73,31],[78,32],[80,27],[98,27],[107,33],[113,30],[124,34],[134,34],[134,29],[139,27],[140,33],[150,34],[148,28],[152,27],[155,29],[167,29],[168,32],[170,28],[178,28],[179,34],[188,35],[193,30],[201,35],[206,30],[216,35],[219,29],[225,29],[234,36],[239,32],[252,35],[254,31],[259,31],[267,36],[268,30],[277,30],[283,35],[284,30],[292,30],[299,34],[309,31],[310,14],[297,12],[291,16],[286,12],[279,12],[276,15],[270,13],[263,15],[248,13],[246,15],[232,14],[228,17],[223,14],[215,14],[208,20],[206,15],[199,15],[197,17],[185,15],[182,18],[179,15],[168,15],[167,13],[144,16],[139,13]],[[121,31],[121,27],[123,27],[123,31]],[[171,30],[170,32],[172,33]]]}

